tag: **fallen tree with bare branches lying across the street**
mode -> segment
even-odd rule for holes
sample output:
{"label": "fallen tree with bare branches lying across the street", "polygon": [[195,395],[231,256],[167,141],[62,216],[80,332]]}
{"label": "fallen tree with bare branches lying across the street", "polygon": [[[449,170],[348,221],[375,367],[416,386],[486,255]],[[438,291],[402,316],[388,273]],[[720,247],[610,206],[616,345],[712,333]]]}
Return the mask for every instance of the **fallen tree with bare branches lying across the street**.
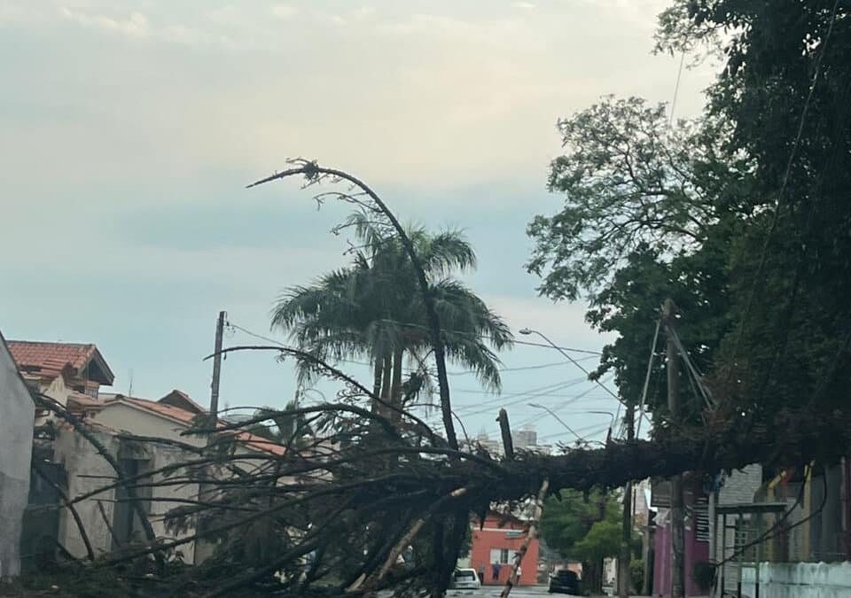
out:
{"label": "fallen tree with bare branches lying across the street", "polygon": [[[292,169],[266,180],[296,175],[308,185],[324,180],[354,184],[362,192],[333,197],[361,206],[387,234],[404,235],[378,196],[339,170],[298,160]],[[419,268],[416,254],[412,263]],[[429,325],[433,355],[439,356],[441,322],[430,318]],[[233,351],[274,352],[295,360],[301,369],[337,381],[338,396],[310,407],[264,410],[238,424],[210,427],[208,418],[199,417],[184,433],[215,435],[215,441],[193,447],[197,456],[131,478],[120,472],[105,484],[100,492],[122,486],[137,509],[136,493],[152,487],[203,482],[212,488],[203,501],[164,502],[172,537],[148,538],[120,555],[74,564],[83,577],[121,579],[122,586],[113,586],[111,595],[370,595],[392,589],[400,596],[441,596],[471,516],[484,520],[495,505],[516,508],[542,487],[558,494],[566,488],[614,488],[683,471],[712,474],[753,462],[827,463],[851,446],[851,416],[845,411],[783,408],[757,420],[722,405],[707,411],[700,424],[663,423],[651,440],[610,440],[597,449],[562,447],[557,455],[507,450],[507,456],[499,457],[480,447],[459,447],[445,364],[436,372],[444,428],[433,430],[410,409],[376,396],[367,384],[316,355],[285,346],[223,350]],[[85,432],[85,422],[41,402]],[[374,404],[384,409],[371,409]],[[292,433],[268,440],[270,446],[285,447],[284,452],[239,450],[235,432],[276,418],[298,422]],[[503,425],[507,427],[507,418]],[[161,441],[128,434],[122,439]],[[211,465],[217,466],[216,475],[210,475]],[[68,497],[66,504],[82,500],[98,500],[98,492]],[[203,563],[184,567],[163,562],[164,555],[199,540],[216,547]],[[410,557],[399,563],[403,551]],[[111,573],[101,576],[97,568]],[[116,571],[121,573],[117,577]]]}

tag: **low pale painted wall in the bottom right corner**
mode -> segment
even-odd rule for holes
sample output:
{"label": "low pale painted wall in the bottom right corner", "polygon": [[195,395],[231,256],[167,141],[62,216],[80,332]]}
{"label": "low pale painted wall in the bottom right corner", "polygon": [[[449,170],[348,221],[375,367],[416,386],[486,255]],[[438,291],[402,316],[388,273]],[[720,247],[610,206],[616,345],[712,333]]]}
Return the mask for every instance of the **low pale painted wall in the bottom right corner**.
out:
{"label": "low pale painted wall in the bottom right corner", "polygon": [[[753,565],[742,581],[743,596],[753,598]],[[851,563],[760,563],[760,598],[851,598]]]}

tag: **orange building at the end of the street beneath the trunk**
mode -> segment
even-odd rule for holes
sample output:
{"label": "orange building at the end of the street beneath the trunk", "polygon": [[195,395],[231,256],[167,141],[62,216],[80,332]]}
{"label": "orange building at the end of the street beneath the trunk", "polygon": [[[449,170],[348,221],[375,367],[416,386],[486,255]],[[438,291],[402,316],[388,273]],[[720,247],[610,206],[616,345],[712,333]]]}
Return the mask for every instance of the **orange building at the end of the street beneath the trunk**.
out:
{"label": "orange building at the end of the street beneath the trunk", "polygon": [[[526,524],[516,517],[496,514],[488,515],[484,525],[480,525],[478,520],[472,524],[470,566],[480,574],[484,571],[483,585],[504,584],[511,575],[514,555],[526,539]],[[534,586],[537,583],[538,552],[538,540],[532,540],[520,563],[519,585]]]}

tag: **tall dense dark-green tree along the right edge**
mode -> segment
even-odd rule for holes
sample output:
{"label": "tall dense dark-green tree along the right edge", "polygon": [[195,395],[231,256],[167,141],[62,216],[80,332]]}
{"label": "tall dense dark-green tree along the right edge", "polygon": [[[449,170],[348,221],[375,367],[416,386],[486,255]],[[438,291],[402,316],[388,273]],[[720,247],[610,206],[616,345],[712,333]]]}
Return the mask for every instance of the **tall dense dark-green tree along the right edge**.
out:
{"label": "tall dense dark-green tree along the right edge", "polygon": [[753,159],[746,226],[730,244],[736,325],[719,354],[718,384],[758,418],[802,400],[824,410],[845,402],[849,17],[847,3],[830,0],[676,0],[660,19],[660,50],[720,50],[726,64],[707,113],[733,126],[726,154]]}

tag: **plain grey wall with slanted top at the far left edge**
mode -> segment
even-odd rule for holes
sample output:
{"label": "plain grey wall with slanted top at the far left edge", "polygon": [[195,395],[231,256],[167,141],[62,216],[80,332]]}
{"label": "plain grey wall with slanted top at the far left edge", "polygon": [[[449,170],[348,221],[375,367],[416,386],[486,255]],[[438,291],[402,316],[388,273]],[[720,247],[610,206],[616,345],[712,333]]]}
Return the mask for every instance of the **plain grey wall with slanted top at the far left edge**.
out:
{"label": "plain grey wall with slanted top at the far left edge", "polygon": [[35,405],[0,335],[0,579],[20,573]]}

